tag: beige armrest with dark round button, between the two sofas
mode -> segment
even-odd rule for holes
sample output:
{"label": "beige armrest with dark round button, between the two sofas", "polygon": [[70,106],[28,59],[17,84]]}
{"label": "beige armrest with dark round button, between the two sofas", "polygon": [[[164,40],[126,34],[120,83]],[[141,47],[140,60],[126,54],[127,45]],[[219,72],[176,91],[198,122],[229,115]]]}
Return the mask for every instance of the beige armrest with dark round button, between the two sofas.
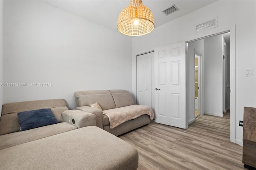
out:
{"label": "beige armrest with dark round button, between the two sofas", "polygon": [[92,113],[79,111],[79,110],[68,110],[62,113],[64,122],[70,123],[77,128],[96,126],[96,116]]}

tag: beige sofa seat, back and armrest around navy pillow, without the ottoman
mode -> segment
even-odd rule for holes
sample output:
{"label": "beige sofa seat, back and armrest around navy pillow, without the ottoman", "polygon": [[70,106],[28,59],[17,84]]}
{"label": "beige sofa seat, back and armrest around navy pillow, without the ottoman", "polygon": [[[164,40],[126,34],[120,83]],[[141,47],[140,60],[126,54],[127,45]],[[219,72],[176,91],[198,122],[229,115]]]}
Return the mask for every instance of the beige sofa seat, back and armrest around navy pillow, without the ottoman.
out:
{"label": "beige sofa seat, back and armrest around navy pillow, without the ottoman", "polygon": [[[46,108],[52,110],[58,123],[20,131],[17,113]],[[0,121],[0,150],[91,125],[96,125],[95,115],[79,110],[68,110],[64,99],[6,103],[2,106]]]}

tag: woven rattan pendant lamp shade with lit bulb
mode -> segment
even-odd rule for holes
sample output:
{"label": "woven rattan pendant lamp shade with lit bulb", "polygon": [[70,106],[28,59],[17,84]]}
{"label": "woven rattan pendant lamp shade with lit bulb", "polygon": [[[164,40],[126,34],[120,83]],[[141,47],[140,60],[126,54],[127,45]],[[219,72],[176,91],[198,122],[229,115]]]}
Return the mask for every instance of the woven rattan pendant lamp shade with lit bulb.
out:
{"label": "woven rattan pendant lamp shade with lit bulb", "polygon": [[117,21],[117,29],[127,36],[143,36],[154,30],[153,14],[142,0],[131,0],[122,10]]}

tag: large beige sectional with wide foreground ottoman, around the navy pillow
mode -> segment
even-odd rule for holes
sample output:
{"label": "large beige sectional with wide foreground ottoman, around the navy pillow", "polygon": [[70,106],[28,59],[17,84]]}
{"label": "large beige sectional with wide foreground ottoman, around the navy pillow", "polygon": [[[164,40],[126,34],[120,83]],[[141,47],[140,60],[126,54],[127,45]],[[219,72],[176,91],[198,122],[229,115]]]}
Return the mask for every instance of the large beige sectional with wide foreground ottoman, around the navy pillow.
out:
{"label": "large beige sectional with wide foreground ottoman, around the navy pillow", "polygon": [[[17,113],[46,108],[58,123],[20,131]],[[4,104],[0,169],[136,170],[136,148],[95,125],[94,114],[68,110],[64,99]]]}

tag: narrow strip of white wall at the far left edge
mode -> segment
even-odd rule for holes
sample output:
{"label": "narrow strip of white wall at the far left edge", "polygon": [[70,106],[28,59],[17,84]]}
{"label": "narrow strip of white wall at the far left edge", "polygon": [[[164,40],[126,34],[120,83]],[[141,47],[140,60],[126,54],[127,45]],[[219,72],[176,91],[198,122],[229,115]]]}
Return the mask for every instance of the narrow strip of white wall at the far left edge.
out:
{"label": "narrow strip of white wall at the far left edge", "polygon": [[[4,15],[4,1],[0,0],[0,84],[4,82],[3,15]],[[4,87],[0,86],[0,117],[2,113],[3,93],[4,93]]]}

